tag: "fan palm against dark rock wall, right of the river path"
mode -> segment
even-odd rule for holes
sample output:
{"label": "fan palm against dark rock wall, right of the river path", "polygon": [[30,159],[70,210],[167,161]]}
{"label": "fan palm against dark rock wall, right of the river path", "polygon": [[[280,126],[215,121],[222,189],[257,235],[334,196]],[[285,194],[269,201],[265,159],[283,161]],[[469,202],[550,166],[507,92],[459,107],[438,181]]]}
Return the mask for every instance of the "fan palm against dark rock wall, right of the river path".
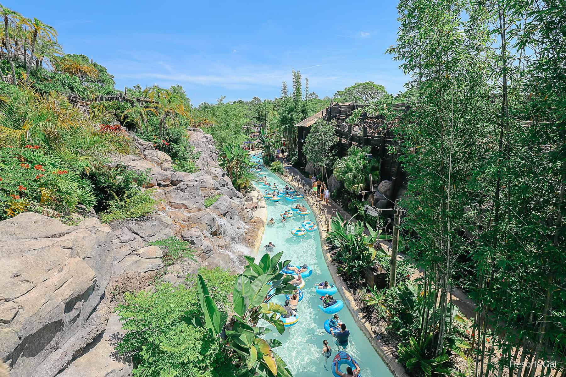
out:
{"label": "fan palm against dark rock wall, right of the river path", "polygon": [[369,146],[351,146],[348,155],[336,162],[334,175],[353,193],[357,194],[366,189],[370,175],[374,180],[379,177],[378,162],[374,158],[367,158],[369,153]]}

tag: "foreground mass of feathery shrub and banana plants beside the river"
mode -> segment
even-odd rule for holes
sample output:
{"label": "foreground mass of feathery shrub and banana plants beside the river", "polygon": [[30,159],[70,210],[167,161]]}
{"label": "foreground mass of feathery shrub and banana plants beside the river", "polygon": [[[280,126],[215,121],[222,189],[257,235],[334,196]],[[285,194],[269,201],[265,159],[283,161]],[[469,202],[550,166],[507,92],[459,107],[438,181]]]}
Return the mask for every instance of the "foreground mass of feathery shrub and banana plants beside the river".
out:
{"label": "foreground mass of feathery shrub and banana plants beside the river", "polygon": [[188,277],[188,288],[160,284],[155,293],[127,293],[117,309],[128,330],[118,352],[133,356],[135,375],[290,377],[273,351],[281,343],[262,339],[270,330],[257,326],[263,319],[285,331],[275,317],[285,309],[264,303],[272,288],[275,294],[295,289],[280,272],[290,262],[280,261],[282,254],[265,254],[257,264],[247,257],[249,265],[238,276],[200,268]]}

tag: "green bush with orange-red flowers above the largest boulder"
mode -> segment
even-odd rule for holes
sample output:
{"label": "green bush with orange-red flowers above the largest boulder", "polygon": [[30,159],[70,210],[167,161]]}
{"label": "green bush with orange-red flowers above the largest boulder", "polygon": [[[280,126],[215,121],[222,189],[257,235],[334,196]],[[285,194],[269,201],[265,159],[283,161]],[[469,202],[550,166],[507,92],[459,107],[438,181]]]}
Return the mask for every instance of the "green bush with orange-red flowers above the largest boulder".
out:
{"label": "green bush with orange-red flowers above the largest boulder", "polygon": [[79,203],[95,204],[90,181],[34,145],[0,148],[0,177],[0,220],[24,211],[70,214]]}

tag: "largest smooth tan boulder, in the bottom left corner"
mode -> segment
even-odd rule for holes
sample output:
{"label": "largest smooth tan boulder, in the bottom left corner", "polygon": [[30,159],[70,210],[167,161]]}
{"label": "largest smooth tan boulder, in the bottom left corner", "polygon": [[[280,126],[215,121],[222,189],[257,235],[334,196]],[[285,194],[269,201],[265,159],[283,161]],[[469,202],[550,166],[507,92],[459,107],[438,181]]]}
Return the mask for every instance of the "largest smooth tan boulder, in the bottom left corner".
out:
{"label": "largest smooth tan boulder, in the bottom left corner", "polygon": [[75,227],[36,213],[0,222],[0,359],[12,377],[55,376],[104,330],[114,237],[95,218]]}

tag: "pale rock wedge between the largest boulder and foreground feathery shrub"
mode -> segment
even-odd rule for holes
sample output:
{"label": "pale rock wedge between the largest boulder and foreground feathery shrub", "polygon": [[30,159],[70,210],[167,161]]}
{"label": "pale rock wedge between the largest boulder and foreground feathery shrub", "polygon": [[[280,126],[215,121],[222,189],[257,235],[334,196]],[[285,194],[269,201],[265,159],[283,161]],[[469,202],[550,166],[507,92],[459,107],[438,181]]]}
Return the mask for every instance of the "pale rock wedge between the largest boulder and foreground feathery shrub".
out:
{"label": "pale rock wedge between the largest boulder and foreground feathery shrub", "polygon": [[114,350],[114,345],[125,333],[118,314],[110,314],[104,333],[89,344],[83,354],[74,359],[57,377],[130,377],[131,359],[118,356]]}

